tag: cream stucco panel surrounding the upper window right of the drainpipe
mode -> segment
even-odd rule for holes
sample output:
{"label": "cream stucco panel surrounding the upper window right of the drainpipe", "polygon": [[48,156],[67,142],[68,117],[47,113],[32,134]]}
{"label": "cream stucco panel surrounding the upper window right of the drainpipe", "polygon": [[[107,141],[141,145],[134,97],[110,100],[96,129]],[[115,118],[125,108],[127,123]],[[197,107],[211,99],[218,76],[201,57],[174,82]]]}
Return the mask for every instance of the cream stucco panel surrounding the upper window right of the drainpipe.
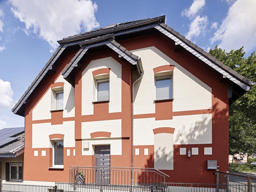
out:
{"label": "cream stucco panel surrounding the upper window right of the drainpipe", "polygon": [[155,113],[155,77],[153,68],[175,65],[173,70],[173,111],[212,108],[212,89],[156,47],[132,51],[142,61],[144,75],[135,84],[134,114]]}

